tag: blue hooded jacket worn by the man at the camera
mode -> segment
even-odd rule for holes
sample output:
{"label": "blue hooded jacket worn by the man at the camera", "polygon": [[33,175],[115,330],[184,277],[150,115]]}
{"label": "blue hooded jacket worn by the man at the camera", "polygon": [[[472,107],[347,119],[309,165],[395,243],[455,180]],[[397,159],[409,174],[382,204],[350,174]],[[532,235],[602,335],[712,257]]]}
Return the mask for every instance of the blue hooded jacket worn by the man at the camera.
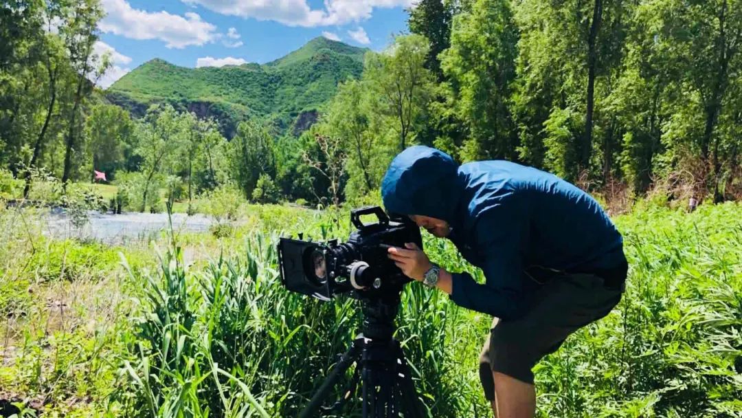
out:
{"label": "blue hooded jacket worn by the man at the camera", "polygon": [[610,270],[625,263],[623,239],[590,195],[553,174],[508,161],[459,166],[448,154],[413,146],[381,182],[387,212],[447,221],[448,237],[485,273],[477,284],[453,274],[451,299],[500,319],[522,316],[537,287],[528,267]]}

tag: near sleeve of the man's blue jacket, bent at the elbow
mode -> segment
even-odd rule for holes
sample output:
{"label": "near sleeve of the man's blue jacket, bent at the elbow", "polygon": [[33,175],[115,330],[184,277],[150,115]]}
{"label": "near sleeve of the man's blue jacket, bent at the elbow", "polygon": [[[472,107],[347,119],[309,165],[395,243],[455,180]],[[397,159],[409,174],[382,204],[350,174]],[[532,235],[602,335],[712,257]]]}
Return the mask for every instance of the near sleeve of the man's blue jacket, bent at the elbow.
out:
{"label": "near sleeve of the man's blue jacket, bent at the elbow", "polygon": [[450,298],[459,306],[499,319],[522,316],[522,252],[528,240],[528,205],[522,197],[498,199],[476,222],[476,250],[484,260],[485,284],[468,273],[453,274]]}

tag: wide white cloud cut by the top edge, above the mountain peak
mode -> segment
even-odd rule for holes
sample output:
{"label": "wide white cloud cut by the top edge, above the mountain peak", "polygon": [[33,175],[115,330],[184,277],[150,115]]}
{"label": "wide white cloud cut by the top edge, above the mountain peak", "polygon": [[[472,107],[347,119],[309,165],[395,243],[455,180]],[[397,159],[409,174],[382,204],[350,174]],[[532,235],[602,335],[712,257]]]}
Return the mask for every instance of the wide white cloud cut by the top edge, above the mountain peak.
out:
{"label": "wide white cloud cut by the top edge, above the mountain peak", "polygon": [[415,0],[324,0],[312,10],[307,0],[181,0],[225,15],[273,20],[289,26],[344,25],[369,19],[376,7],[412,7]]}

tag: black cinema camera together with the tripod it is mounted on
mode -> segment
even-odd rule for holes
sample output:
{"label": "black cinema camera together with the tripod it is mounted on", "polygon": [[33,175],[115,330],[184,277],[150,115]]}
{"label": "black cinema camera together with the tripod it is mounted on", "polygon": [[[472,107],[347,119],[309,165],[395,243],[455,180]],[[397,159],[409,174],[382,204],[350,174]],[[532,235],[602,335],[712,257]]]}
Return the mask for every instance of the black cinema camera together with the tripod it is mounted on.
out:
{"label": "black cinema camera together with the tripod it is mounted on", "polygon": [[[363,223],[364,215],[375,215],[378,222]],[[281,238],[278,244],[281,281],[287,289],[323,301],[349,293],[361,301],[363,314],[361,333],[299,418],[338,413],[350,399],[361,402],[364,418],[429,417],[430,411],[416,393],[401,345],[393,338],[401,291],[410,279],[387,257],[390,246],[404,247],[413,242],[422,248],[420,229],[407,218],[390,219],[378,206],[354,210],[350,219],[358,230],[343,244],[337,240],[301,241],[301,237]],[[340,392],[341,399],[325,405],[332,388],[354,364],[352,378]]]}

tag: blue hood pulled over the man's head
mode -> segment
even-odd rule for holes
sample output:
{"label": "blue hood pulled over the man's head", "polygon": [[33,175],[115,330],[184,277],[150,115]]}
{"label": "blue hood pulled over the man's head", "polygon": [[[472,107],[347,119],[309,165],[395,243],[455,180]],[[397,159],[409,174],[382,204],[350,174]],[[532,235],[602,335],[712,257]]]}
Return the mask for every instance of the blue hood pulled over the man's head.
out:
{"label": "blue hood pulled over the man's head", "polygon": [[453,223],[461,194],[459,164],[427,146],[402,151],[381,180],[384,207],[399,215],[424,215]]}

